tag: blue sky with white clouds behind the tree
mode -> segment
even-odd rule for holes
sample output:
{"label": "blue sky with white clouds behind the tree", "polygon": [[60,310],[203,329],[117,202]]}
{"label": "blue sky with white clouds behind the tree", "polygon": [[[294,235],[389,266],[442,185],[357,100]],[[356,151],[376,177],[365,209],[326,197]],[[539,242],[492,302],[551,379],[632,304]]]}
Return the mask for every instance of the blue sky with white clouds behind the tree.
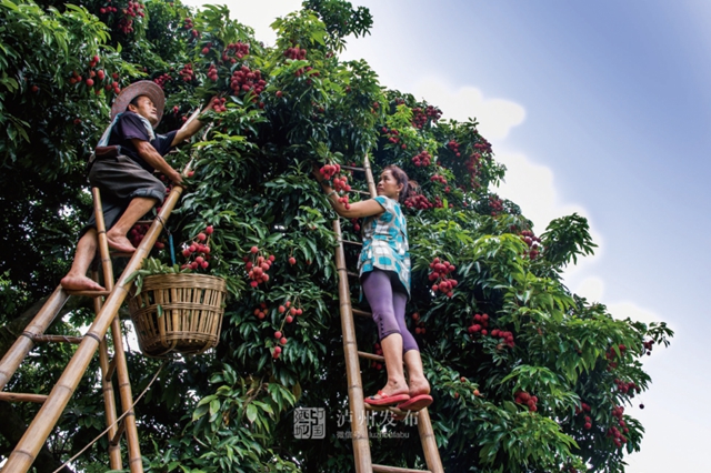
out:
{"label": "blue sky with white clouds behind the tree", "polygon": [[[628,471],[711,471],[711,2],[351,2],[371,9],[374,27],[343,58],[365,59],[383,85],[445,118],[479,119],[509,168],[500,194],[538,233],[563,214],[589,219],[600,248],[568,285],[615,316],[677,332],[645,360],[647,409],[629,413],[647,435]],[[273,18],[300,8],[224,3],[267,44]]]}

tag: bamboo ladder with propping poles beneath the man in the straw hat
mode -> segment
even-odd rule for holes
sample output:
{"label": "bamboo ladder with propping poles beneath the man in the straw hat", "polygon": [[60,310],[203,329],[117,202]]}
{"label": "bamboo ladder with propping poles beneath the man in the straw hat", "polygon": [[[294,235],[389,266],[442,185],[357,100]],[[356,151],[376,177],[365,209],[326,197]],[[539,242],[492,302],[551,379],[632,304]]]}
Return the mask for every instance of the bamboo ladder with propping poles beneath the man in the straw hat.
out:
{"label": "bamboo ladder with propping poles beneath the man in the straw hat", "polygon": [[[191,163],[183,170],[183,175],[190,171]],[[170,217],[176,203],[182,194],[183,188],[173,185],[170,194],[163,202],[161,211],[153,220],[143,240],[129,260],[118,283],[113,282],[113,270],[109,254],[109,245],[106,235],[103,212],[101,210],[101,199],[99,190],[92,190],[94,213],[97,215],[97,230],[99,236],[99,252],[104,275],[106,291],[66,291],[61,285],[57,286],[49,296],[42,309],[27,326],[24,332],[18,338],[14,344],[0,360],[0,390],[10,381],[10,378],[18,370],[24,358],[29,354],[34,343],[40,342],[68,342],[79,346],[67,364],[62,375],[54,384],[49,395],[24,394],[0,391],[0,401],[9,402],[34,402],[42,406],[34,416],[32,423],[27,429],[20,442],[8,457],[2,473],[26,473],[32,466],[38,452],[49,437],[52,429],[57,425],[69,399],[79,385],[81,378],[86,373],[89,363],[99,349],[99,365],[101,366],[101,383],[106,407],[106,420],[109,427],[109,462],[112,470],[123,470],[121,460],[121,437],[126,434],[127,450],[129,457],[129,469],[131,473],[142,473],[143,463],[136,426],[136,416],[132,410],[133,395],[129,381],[126,352],[122,344],[121,324],[118,312],[128,295],[130,283],[127,279],[143,264],[143,260],[153,248],[153,243],[162,231],[164,222]],[[98,280],[98,271],[92,271],[92,278]],[[83,336],[67,338],[61,335],[44,335],[44,331],[51,325],[54,318],[62,309],[70,295],[84,295],[94,298],[94,310],[97,316],[89,331]],[[103,299],[103,302],[102,302]],[[109,361],[109,350],[107,331],[111,328],[113,340],[113,359]],[[116,400],[112,388],[112,376],[117,374],[119,394],[123,410],[123,419],[117,424]]]}

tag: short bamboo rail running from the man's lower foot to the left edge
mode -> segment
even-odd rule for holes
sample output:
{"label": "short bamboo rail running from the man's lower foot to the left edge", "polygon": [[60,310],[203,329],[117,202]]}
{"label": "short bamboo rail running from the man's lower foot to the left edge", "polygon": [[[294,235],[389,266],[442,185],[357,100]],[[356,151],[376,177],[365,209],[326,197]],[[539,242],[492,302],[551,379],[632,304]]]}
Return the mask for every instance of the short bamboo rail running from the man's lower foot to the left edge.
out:
{"label": "short bamboo rail running from the man's lower foot to the left edge", "polygon": [[58,285],[52,295],[42,305],[42,309],[34,315],[32,322],[24,329],[24,332],[18,336],[10,350],[2,356],[2,361],[0,361],[0,390],[4,389],[14,372],[20,368],[22,360],[34,346],[33,338],[44,333],[59,311],[64,306],[68,298],[69,295],[62,286]]}

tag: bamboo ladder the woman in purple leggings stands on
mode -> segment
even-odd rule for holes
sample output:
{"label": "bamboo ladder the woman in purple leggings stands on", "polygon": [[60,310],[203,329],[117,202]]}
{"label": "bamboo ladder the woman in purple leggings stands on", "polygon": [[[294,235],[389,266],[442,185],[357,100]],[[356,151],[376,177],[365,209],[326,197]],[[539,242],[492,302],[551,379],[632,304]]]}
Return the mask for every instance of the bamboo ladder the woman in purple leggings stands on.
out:
{"label": "bamboo ladder the woman in purple leggings stands on", "polygon": [[[363,168],[341,167],[342,169],[351,171],[362,171],[365,173],[365,180],[368,182],[369,192],[361,192],[369,194],[370,197],[377,197],[375,182],[373,181],[372,170],[370,168],[370,161],[368,155],[363,159]],[[333,221],[333,231],[338,238],[339,245],[336,248],[336,266],[339,274],[339,300],[341,312],[341,330],[343,332],[343,351],[346,355],[346,371],[348,378],[348,399],[351,414],[361,414],[358,417],[351,415],[351,419],[365,419],[362,415],[363,411],[382,411],[388,410],[393,414],[405,415],[407,412],[400,411],[397,407],[373,407],[364,403],[363,396],[363,383],[360,375],[360,362],[359,358],[375,360],[381,363],[385,362],[385,359],[372,353],[365,353],[358,351],[358,344],[356,341],[356,324],[353,322],[353,314],[372,318],[372,314],[353,309],[351,305],[350,284],[348,282],[349,275],[358,276],[357,273],[348,271],[346,268],[346,251],[343,250],[343,243],[362,245],[360,242],[352,242],[343,240],[341,233],[340,219]],[[370,454],[370,440],[368,436],[368,423],[367,422],[351,422],[351,437],[353,441],[353,460],[356,462],[357,473],[415,473],[415,472],[431,472],[443,473],[442,461],[440,459],[439,450],[437,449],[437,442],[434,440],[434,433],[432,431],[432,423],[430,421],[430,414],[425,409],[422,409],[417,413],[418,415],[418,431],[420,434],[420,441],[422,442],[422,450],[424,452],[424,461],[429,470],[411,470],[401,469],[395,466],[377,465],[372,463]]]}

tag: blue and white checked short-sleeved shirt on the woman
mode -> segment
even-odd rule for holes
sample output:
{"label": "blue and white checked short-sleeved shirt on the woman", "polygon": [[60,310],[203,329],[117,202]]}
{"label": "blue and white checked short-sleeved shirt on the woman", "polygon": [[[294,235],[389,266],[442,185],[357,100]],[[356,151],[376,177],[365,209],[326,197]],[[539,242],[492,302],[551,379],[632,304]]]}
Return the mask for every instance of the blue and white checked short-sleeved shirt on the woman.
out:
{"label": "blue and white checked short-sleeved shirt on the woman", "polygon": [[384,195],[374,199],[385,211],[363,224],[363,249],[358,260],[360,275],[378,268],[392,271],[410,294],[408,224],[400,204]]}

